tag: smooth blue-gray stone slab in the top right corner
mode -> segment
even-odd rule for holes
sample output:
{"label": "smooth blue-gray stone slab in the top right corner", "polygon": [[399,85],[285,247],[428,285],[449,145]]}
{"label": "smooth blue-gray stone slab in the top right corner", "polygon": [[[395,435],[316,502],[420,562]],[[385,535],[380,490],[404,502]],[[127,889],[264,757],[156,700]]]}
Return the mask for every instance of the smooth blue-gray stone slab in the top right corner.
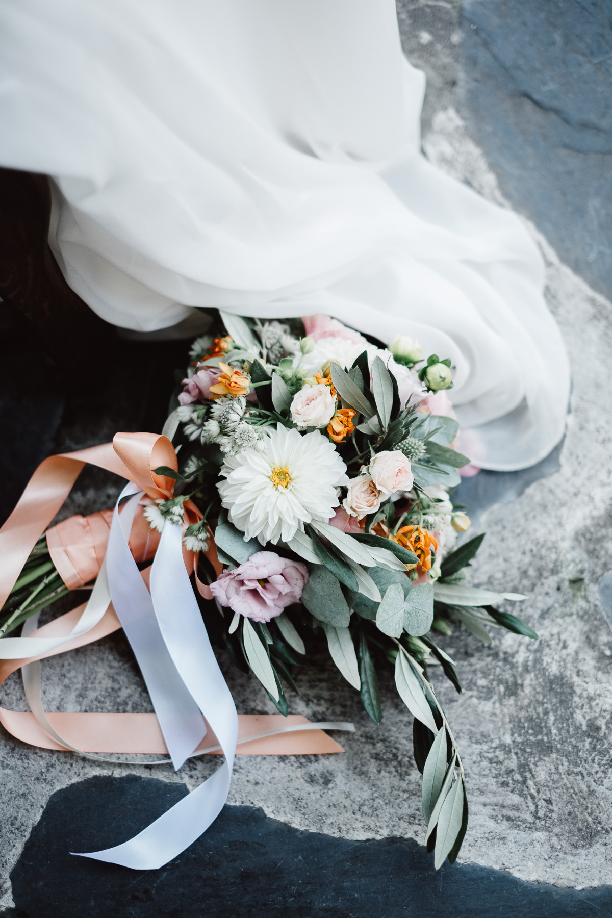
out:
{"label": "smooth blue-gray stone slab in the top right corner", "polygon": [[612,292],[612,2],[466,0],[462,105],[502,192]]}

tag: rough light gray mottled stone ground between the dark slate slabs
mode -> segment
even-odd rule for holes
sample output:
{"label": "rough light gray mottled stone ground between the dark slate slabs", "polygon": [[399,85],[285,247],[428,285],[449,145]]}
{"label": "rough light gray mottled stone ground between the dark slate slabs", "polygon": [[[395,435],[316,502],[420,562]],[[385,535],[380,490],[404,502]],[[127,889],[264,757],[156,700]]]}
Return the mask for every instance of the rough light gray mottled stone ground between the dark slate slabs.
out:
{"label": "rough light gray mottled stone ground between the dark slate slabs", "polygon": [[[460,6],[422,0],[399,7],[406,51],[428,72],[424,149],[440,168],[503,202],[483,151],[471,139],[473,116],[462,108],[457,88]],[[504,502],[483,509],[479,527],[488,535],[473,582],[529,594],[522,614],[540,641],[495,633],[486,647],[456,633],[446,647],[458,662],[464,692],[457,696],[440,677],[437,684],[467,769],[471,827],[460,860],[584,889],[612,876],[612,633],[598,593],[612,567],[612,313],[610,303],[530,229],[547,261],[548,302],[572,360],[572,413],[558,470],[524,490],[517,481],[516,497],[506,489]],[[71,511],[97,509],[100,502],[99,490],[85,485]],[[602,588],[602,599],[606,595]],[[239,711],[273,712],[254,680],[222,662]],[[46,663],[43,682],[49,710],[150,710],[117,635]],[[239,757],[229,802],[261,806],[286,823],[328,834],[422,840],[410,717],[391,679],[382,687],[379,727],[360,713],[356,694],[325,661],[299,684],[301,696],[290,695],[293,712],[355,722],[357,733],[338,734],[345,754]],[[0,703],[26,709],[17,677],[0,694]],[[179,775],[160,767],[154,774],[193,788],[216,764],[191,763]],[[109,770],[3,738],[0,907],[12,904],[6,878],[50,794]],[[127,772],[150,775],[151,768],[115,771]]]}

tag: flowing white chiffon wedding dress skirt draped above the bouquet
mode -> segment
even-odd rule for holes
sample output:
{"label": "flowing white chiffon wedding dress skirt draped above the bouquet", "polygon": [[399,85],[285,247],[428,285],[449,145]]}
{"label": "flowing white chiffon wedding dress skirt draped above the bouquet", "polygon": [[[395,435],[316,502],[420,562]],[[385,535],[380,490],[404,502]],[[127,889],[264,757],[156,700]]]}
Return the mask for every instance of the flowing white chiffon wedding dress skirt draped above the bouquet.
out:
{"label": "flowing white chiffon wedding dress skirt draped above the bouquet", "polygon": [[473,461],[562,437],[569,370],[519,219],[419,152],[393,0],[0,0],[0,164],[117,326],[328,313],[451,357]]}

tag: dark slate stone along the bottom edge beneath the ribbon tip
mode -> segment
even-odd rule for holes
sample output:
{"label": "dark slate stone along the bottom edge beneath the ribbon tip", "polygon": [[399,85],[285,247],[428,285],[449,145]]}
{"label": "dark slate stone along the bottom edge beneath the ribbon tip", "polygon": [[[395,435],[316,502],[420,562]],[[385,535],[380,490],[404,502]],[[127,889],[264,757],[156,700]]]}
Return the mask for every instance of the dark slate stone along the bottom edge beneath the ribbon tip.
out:
{"label": "dark slate stone along the bottom edge beneath the ribbon tip", "polygon": [[436,873],[416,842],[304,832],[259,809],[227,806],[160,870],[133,871],[71,851],[117,845],[184,796],[156,778],[90,778],[58,790],[11,874],[4,918],[586,918],[611,914],[612,887],[561,890],[473,864]]}

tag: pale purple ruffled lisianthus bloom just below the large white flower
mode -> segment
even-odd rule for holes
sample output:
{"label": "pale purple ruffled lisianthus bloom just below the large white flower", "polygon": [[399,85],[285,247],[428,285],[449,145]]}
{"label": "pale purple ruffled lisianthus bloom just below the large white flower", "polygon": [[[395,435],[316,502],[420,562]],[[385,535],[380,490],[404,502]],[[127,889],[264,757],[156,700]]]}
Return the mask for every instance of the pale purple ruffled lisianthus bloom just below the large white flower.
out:
{"label": "pale purple ruffled lisianthus bloom just below the large white flower", "polygon": [[257,552],[235,570],[224,571],[210,589],[222,606],[252,621],[270,621],[299,602],[307,579],[308,569],[300,561]]}

